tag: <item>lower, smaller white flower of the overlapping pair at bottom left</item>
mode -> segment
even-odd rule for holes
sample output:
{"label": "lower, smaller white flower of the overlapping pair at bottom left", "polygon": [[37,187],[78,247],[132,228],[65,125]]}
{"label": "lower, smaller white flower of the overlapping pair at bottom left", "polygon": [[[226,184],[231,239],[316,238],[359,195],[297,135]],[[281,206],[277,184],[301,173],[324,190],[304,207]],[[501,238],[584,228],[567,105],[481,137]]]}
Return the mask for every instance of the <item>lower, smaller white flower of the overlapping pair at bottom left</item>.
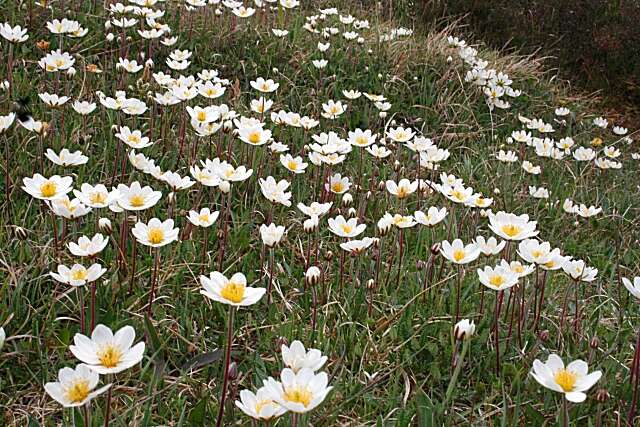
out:
{"label": "lower, smaller white flower of the overlapping pair at bottom left", "polygon": [[104,393],[111,384],[95,390],[100,375],[84,363],[75,369],[62,368],[58,371],[58,381],[44,385],[44,389],[65,408],[84,406],[94,397]]}

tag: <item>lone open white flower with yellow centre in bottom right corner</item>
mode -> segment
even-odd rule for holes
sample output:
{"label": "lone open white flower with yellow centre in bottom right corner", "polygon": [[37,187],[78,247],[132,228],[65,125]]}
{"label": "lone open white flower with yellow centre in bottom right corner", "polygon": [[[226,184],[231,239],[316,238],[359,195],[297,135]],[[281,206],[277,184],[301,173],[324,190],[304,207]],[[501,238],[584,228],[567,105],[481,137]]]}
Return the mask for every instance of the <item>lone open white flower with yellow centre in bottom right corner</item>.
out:
{"label": "lone open white flower with yellow centre in bottom right corner", "polygon": [[584,402],[589,390],[602,376],[602,372],[588,373],[586,362],[575,360],[565,368],[562,359],[551,354],[546,363],[536,359],[533,361],[531,376],[548,389],[564,393],[564,397],[575,403]]}

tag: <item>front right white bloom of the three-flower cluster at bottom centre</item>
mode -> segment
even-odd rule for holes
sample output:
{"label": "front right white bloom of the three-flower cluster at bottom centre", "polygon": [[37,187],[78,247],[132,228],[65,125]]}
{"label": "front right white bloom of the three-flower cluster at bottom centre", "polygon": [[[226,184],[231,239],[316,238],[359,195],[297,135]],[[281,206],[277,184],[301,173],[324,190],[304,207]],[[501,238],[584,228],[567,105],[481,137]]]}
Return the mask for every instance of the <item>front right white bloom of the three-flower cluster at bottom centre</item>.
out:
{"label": "front right white bloom of the three-flower cluster at bottom centre", "polygon": [[280,373],[280,382],[271,377],[264,381],[273,400],[296,413],[309,412],[320,405],[333,388],[327,387],[328,383],[325,372],[314,374],[309,368],[297,373],[285,368]]}

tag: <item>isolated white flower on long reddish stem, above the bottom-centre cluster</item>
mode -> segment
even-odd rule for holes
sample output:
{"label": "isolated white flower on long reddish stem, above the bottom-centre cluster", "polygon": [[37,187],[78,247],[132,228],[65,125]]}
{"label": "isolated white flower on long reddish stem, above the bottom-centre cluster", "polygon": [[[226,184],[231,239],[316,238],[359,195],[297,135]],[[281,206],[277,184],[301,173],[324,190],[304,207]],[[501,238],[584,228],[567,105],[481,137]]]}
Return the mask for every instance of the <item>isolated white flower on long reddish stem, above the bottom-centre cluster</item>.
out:
{"label": "isolated white flower on long reddish stem, above the bottom-centre cluster", "polygon": [[207,276],[200,276],[202,288],[200,293],[207,298],[235,307],[243,307],[257,303],[266,293],[265,288],[247,286],[247,278],[242,273],[236,273],[227,279],[222,273],[212,272]]}

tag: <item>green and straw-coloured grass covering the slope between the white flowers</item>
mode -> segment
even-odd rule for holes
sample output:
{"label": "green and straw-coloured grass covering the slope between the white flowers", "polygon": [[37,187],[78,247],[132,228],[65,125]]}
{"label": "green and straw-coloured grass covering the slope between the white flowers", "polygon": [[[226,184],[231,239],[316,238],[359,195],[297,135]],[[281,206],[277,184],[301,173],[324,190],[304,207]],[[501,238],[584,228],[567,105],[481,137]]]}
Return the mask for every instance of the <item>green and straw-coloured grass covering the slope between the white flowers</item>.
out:
{"label": "green and straw-coloured grass covering the slope between the white flowers", "polygon": [[[126,87],[129,97],[145,99],[151,107],[153,101],[146,99],[146,93],[160,91],[153,79],[137,81],[142,72],[134,77],[115,70],[120,45],[104,39],[106,15],[103,10],[90,11],[87,2],[67,0],[66,3],[70,17],[90,30],[82,39],[65,39],[64,42],[65,50],[77,54],[77,74],[73,78],[60,76],[57,82],[55,76],[44,75],[38,68],[38,59],[59,43],[44,24],[52,17],[62,18],[63,15],[59,2],[51,3],[53,12],[35,7],[29,25],[30,38],[14,52],[18,61],[14,68],[14,92],[15,97],[30,95],[34,117],[52,123],[53,130],[42,139],[45,149],[80,149],[89,156],[89,163],[63,170],[44,159],[42,170],[37,137],[16,126],[0,136],[3,150],[4,140],[8,143],[9,173],[13,182],[11,204],[4,202],[2,207],[4,227],[0,233],[0,324],[4,325],[9,337],[0,353],[0,405],[6,425],[72,425],[74,422],[82,425],[81,411],[63,410],[43,388],[44,383],[55,380],[58,369],[76,364],[68,346],[73,342],[74,334],[80,331],[77,294],[48,275],[59,263],[69,265],[76,261],[66,249],[58,253],[54,250],[51,218],[40,203],[19,188],[22,178],[36,172],[45,176],[73,173],[76,187],[83,182],[111,183],[117,144],[112,125],[128,125],[148,132],[152,114],[150,110],[141,117],[132,118],[99,105],[83,124],[68,103],[62,125],[62,113],[47,109],[36,93],[53,93],[57,87],[56,93],[60,95],[75,99],[82,93],[83,99],[93,98],[97,102],[96,90],[113,96],[116,88]],[[626,418],[631,400],[628,367],[633,358],[635,330],[640,319],[636,301],[620,284],[620,277],[640,275],[638,166],[637,161],[631,159],[635,145],[620,145],[623,168],[618,171],[600,171],[593,162],[585,167],[571,157],[561,161],[541,159],[527,148],[521,160],[527,159],[543,167],[541,175],[527,175],[519,163],[506,164],[495,159],[495,153],[502,145],[505,145],[504,149],[519,152],[517,145],[505,143],[511,132],[520,128],[518,114],[551,122],[554,108],[567,105],[575,113],[575,120],[566,129],[556,125],[558,130],[554,136],[559,139],[560,135],[571,135],[577,145],[588,146],[593,137],[600,135],[590,124],[593,117],[600,115],[592,100],[575,97],[566,88],[549,82],[535,58],[507,56],[480,47],[480,56],[489,60],[490,67],[507,72],[514,80],[513,86],[523,91],[523,96],[513,100],[510,109],[490,113],[482,94],[464,82],[467,69],[455,51],[447,47],[446,36],[454,34],[455,27],[442,32],[417,30],[411,37],[381,43],[377,41],[379,33],[408,25],[407,21],[385,21],[379,11],[362,11],[353,5],[354,15],[367,18],[371,23],[371,29],[362,32],[366,37],[364,46],[333,36],[330,50],[323,55],[316,48],[317,36],[302,29],[304,16],[316,13],[315,7],[306,7],[286,14],[268,13],[264,24],[259,24],[262,18],[257,15],[238,20],[236,31],[232,32],[228,10],[222,17],[214,17],[210,7],[206,16],[203,12],[194,13],[192,20],[183,8],[171,2],[166,5],[164,22],[173,28],[174,35],[179,36],[175,48],[193,51],[192,64],[182,73],[195,74],[202,68],[218,69],[221,77],[228,78],[231,86],[239,90],[227,88],[224,97],[215,103],[227,103],[242,115],[255,116],[248,108],[255,97],[249,82],[259,76],[280,83],[278,92],[269,96],[275,101],[273,110],[296,111],[315,118],[320,116],[322,102],[343,98],[343,89],[383,93],[393,104],[388,119],[421,130],[439,147],[450,150],[451,158],[442,163],[442,171],[453,173],[475,191],[494,197],[494,212],[528,213],[538,221],[541,239],[550,241],[552,247],[561,248],[565,254],[584,259],[588,265],[597,267],[599,273],[595,282],[580,285],[582,322],[579,333],[571,326],[573,301],[568,308],[569,320],[564,327],[560,325],[565,290],[567,287],[573,289],[572,282],[561,272],[551,274],[547,283],[540,329],[548,331],[548,338],[543,339],[526,328],[522,337],[524,349],[518,348],[515,334],[506,341],[508,319],[501,320],[500,330],[505,340],[503,367],[501,375],[496,376],[491,338],[495,294],[486,291],[486,309],[484,315],[480,315],[481,285],[475,269],[493,266],[499,258],[480,258],[468,266],[462,282],[461,313],[463,317],[475,319],[476,335],[470,341],[457,387],[449,401],[450,407],[443,407],[453,371],[451,333],[456,269],[437,257],[436,279],[429,283],[428,293],[420,294],[424,270],[418,269],[417,261],[426,262],[431,245],[444,239],[459,237],[470,242],[477,235],[489,237],[491,231],[487,221],[480,217],[476,221],[477,212],[456,207],[454,214],[433,230],[424,227],[406,230],[401,267],[397,260],[398,232],[392,231],[383,238],[380,280],[369,290],[366,283],[375,277],[377,252],[370,249],[358,258],[347,257],[345,285],[341,289],[337,277],[341,251],[338,243],[341,241],[329,232],[323,220],[318,265],[325,272],[325,280],[318,288],[320,304],[314,334],[310,326],[312,299],[304,286],[304,257],[309,237],[302,230],[303,215],[295,209],[295,204],[308,204],[319,198],[319,192],[313,193],[317,168],[310,165],[306,174],[293,176],[282,168],[277,157],[268,161],[269,154],[264,147],[249,148],[229,133],[216,135],[214,143],[221,143],[223,147],[233,144],[233,164],[250,166],[253,161],[254,168],[249,180],[233,186],[232,226],[221,271],[229,275],[243,272],[254,286],[264,286],[267,279],[263,264],[267,256],[260,242],[259,225],[267,216],[272,216],[273,222],[287,227],[286,239],[274,251],[273,303],[267,305],[263,299],[257,305],[239,310],[236,316],[232,356],[239,374],[231,384],[232,398],[235,399],[237,392],[244,388],[255,389],[267,376],[277,377],[282,369],[279,354],[282,339],[289,342],[300,339],[305,346],[318,348],[329,357],[325,370],[334,386],[326,401],[302,419],[301,422],[308,425],[553,425],[560,413],[561,396],[543,389],[528,375],[534,359],[546,360],[553,352],[564,360],[587,360],[590,369],[603,371],[602,379],[590,391],[587,401],[572,405],[573,425],[594,425],[598,413],[603,414],[602,425],[613,425],[617,417],[615,411],[620,411],[622,418]],[[0,3],[0,8],[7,11],[3,19],[12,25],[25,25],[29,21],[26,6],[21,9],[13,2],[5,2]],[[332,25],[342,27],[339,23]],[[290,34],[277,39],[270,32],[273,27],[287,28]],[[133,40],[128,43],[128,58],[133,59],[146,49],[146,42],[140,41],[132,31],[130,35]],[[51,42],[46,52],[35,46],[40,39]],[[7,46],[8,43],[2,40],[3,55]],[[154,49],[154,71],[166,72],[164,61],[172,49]],[[454,58],[451,63],[447,62],[449,55]],[[319,82],[320,73],[310,60],[321,57],[326,57],[329,65],[322,71]],[[89,63],[97,64],[104,72],[85,73],[83,64]],[[0,69],[5,73],[0,76],[6,75],[4,64]],[[123,77],[126,79],[124,84],[121,83]],[[196,98],[190,105],[204,103],[202,98]],[[7,92],[0,94],[0,114],[7,114],[11,108],[12,100]],[[162,118],[166,126],[164,140],[141,151],[156,159],[162,170],[177,171],[184,176],[188,175],[188,156],[178,159],[183,110],[182,105],[165,109]],[[349,109],[338,120],[320,120],[321,124],[316,128],[318,133],[335,131],[343,137],[356,127],[369,128],[379,134],[385,128],[385,122],[378,118],[377,111],[364,97],[350,101]],[[274,138],[288,144],[292,154],[311,142],[308,132],[275,128],[266,121],[267,127],[274,130]],[[605,145],[618,139],[609,131],[600,136]],[[158,137],[156,123],[155,138]],[[195,141],[195,134],[188,128],[186,147],[192,147]],[[200,140],[198,159],[212,158],[207,145],[206,139]],[[257,153],[254,155],[249,150],[257,150]],[[354,149],[346,162],[333,167],[332,171],[350,175],[359,182],[357,150]],[[374,162],[365,155],[361,180],[363,187],[371,190],[371,195],[367,199],[364,190],[352,192],[353,206],[364,209],[365,234],[368,236],[375,235],[375,224],[384,212],[396,213],[401,209],[389,193],[378,190],[378,181],[415,176],[416,162],[410,158],[409,151],[405,148],[393,151],[385,161]],[[398,157],[396,153],[399,153]],[[400,162],[397,171],[393,168],[395,160]],[[262,196],[257,182],[260,164],[265,165],[260,177],[273,175],[277,180],[292,181],[291,208],[272,206]],[[423,178],[429,177],[425,171]],[[140,219],[167,218],[167,186],[149,175],[133,171],[131,165],[127,165],[124,178],[118,177],[114,182],[134,180],[163,191],[161,201],[144,211]],[[551,204],[523,194],[523,186],[528,185],[546,187],[551,193]],[[499,189],[500,194],[494,195],[494,189]],[[578,220],[562,211],[565,198],[601,206],[603,213],[589,220]],[[203,190],[199,184],[179,192],[177,226],[181,232],[187,227],[185,214],[190,209],[206,205],[220,210],[221,201],[219,191]],[[556,205],[556,201],[559,204]],[[407,199],[404,208],[413,212],[417,204],[418,198],[414,194]],[[450,203],[438,194],[423,196],[422,206],[425,204],[451,208]],[[336,209],[330,216],[337,215],[338,209],[346,215],[347,208],[340,206],[337,198],[334,200]],[[65,242],[76,241],[82,234],[92,236],[98,232],[97,219],[101,216],[111,218],[113,236],[117,240],[124,215],[103,209],[67,224]],[[144,320],[153,266],[151,252],[138,245],[136,284],[132,293],[128,292],[130,271],[116,268],[116,246],[110,244],[100,255],[100,262],[108,267],[108,271],[98,286],[97,321],[113,329],[132,325],[137,336],[146,337],[147,343],[140,367],[117,375],[111,425],[213,424],[219,406],[223,372],[221,352],[225,346],[228,308],[199,294],[198,277],[201,270],[218,269],[222,239],[216,232],[221,229],[220,224],[218,222],[206,236],[209,239],[208,259],[201,255],[203,234],[199,229],[194,229],[185,240],[161,250],[159,288],[152,321]],[[27,239],[16,238],[16,226],[28,230]],[[62,226],[62,221],[58,220],[59,232]],[[126,248],[129,264],[131,243],[132,238],[129,238]],[[400,283],[396,281],[399,268]],[[525,283],[530,297],[533,295],[529,294],[533,292],[531,276]],[[368,295],[373,295],[371,315],[367,313]],[[596,336],[600,344],[590,348],[589,342]],[[611,398],[598,403],[595,399],[598,388],[608,390]],[[92,403],[93,425],[102,425],[104,407],[103,396]],[[225,425],[250,424],[249,419],[231,405],[226,414]],[[277,425],[289,425],[289,422],[285,416]]]}

